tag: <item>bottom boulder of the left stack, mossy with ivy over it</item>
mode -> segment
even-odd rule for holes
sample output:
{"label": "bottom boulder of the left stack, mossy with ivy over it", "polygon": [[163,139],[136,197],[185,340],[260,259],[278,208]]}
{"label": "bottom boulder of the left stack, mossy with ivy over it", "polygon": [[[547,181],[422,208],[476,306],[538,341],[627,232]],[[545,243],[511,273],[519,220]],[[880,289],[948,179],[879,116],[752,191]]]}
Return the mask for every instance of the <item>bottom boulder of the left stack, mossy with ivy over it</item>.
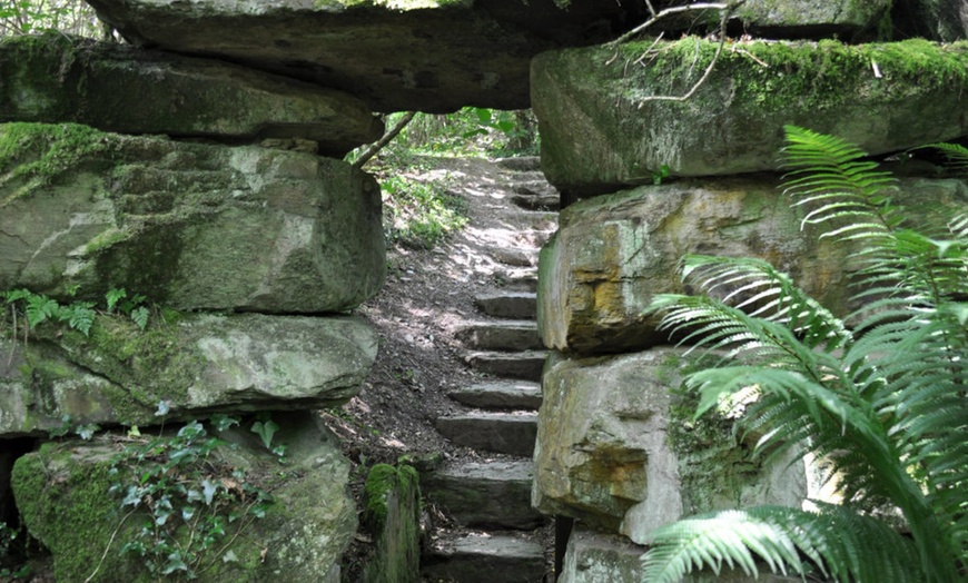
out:
{"label": "bottom boulder of the left stack, mossy with ivy over it", "polygon": [[[156,498],[170,496],[177,512],[169,520],[178,530],[167,540],[179,541],[182,549],[192,535],[211,532],[205,530],[205,521],[221,516],[225,534],[197,555],[197,581],[339,581],[339,557],[357,525],[347,492],[349,464],[340,454],[338,439],[315,415],[276,415],[275,422],[280,428],[273,443],[287,446],[285,463],[245,424],[218,434],[235,447],[220,446],[199,461],[211,472],[207,485],[189,482],[188,471],[175,476],[187,488],[213,488],[201,496],[235,498],[237,503],[207,508],[206,516],[196,521],[195,515],[181,512],[182,505],[189,506],[175,482],[155,494]],[[126,457],[115,464],[119,452],[142,441],[148,438],[127,437],[119,444],[117,438],[103,436],[92,442],[48,444],[17,461],[12,480],[17,505],[30,533],[53,555],[57,581],[159,580],[159,573],[148,571],[148,559],[122,552],[127,543],[145,541],[139,536],[142,527],[152,528],[146,506],[125,501],[129,486],[138,483],[128,474],[137,461]],[[157,455],[162,457],[160,447]],[[117,472],[111,471],[112,465]],[[115,492],[113,485],[118,485]],[[255,491],[247,486],[271,495],[273,503],[261,518],[254,507]],[[233,513],[236,517],[230,520]]]}

